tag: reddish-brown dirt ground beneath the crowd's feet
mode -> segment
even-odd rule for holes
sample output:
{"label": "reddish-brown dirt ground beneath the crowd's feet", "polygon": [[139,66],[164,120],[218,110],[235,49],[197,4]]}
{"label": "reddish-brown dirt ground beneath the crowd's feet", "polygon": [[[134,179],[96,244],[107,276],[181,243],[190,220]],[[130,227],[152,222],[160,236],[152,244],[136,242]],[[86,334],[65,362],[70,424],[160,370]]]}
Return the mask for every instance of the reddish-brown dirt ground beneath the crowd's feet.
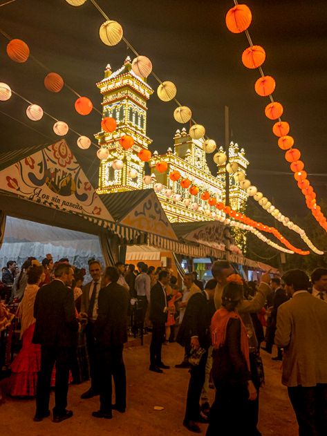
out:
{"label": "reddish-brown dirt ground beneath the crowd's feet", "polygon": [[[162,361],[171,366],[163,374],[149,371],[149,337],[143,346],[124,350],[127,369],[127,410],[121,414],[113,410],[113,419],[97,419],[91,416],[99,409],[99,397],[80,399],[88,389],[89,382],[70,386],[68,409],[73,417],[55,424],[51,417],[34,422],[35,400],[6,398],[0,406],[1,435],[17,436],[69,436],[115,435],[115,436],[190,436],[183,425],[185,399],[189,373],[174,368],[183,359],[183,349],[176,343],[162,347]],[[277,350],[276,350],[277,352]],[[274,351],[273,351],[274,353]],[[265,385],[261,388],[259,402],[259,430],[263,436],[296,436],[297,421],[290,405],[287,389],[281,385],[281,362],[271,360],[270,354],[262,351],[265,367]],[[2,385],[5,385],[3,381]],[[5,386],[3,386],[4,388]],[[210,390],[212,399],[214,390]],[[54,394],[50,397],[53,408]],[[163,410],[154,410],[162,406]],[[200,424],[205,435],[207,426]]]}

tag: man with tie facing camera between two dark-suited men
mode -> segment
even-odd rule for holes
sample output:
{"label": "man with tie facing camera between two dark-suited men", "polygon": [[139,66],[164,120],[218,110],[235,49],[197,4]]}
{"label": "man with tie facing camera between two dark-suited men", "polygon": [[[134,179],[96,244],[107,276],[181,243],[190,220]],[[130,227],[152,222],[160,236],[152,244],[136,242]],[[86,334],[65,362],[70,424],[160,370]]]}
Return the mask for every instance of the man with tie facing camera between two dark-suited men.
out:
{"label": "man with tie facing camera between two dark-suited men", "polygon": [[93,260],[89,263],[88,269],[92,277],[92,281],[86,283],[82,287],[82,304],[81,315],[86,316],[88,319],[85,335],[86,335],[86,347],[88,352],[88,359],[90,361],[90,373],[91,373],[91,388],[86,390],[81,395],[82,399],[92,398],[95,395],[99,395],[100,392],[100,372],[97,368],[97,359],[95,357],[95,341],[94,341],[94,326],[97,319],[97,305],[99,292],[101,288],[101,272],[102,267],[98,260]]}

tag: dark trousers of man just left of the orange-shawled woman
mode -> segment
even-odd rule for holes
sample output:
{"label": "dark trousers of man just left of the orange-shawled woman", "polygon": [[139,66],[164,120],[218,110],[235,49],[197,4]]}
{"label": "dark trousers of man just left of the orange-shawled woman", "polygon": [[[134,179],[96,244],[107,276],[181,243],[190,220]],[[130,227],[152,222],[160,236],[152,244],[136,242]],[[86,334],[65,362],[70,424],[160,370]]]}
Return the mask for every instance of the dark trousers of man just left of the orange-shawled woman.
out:
{"label": "dark trousers of man just left of the orange-shawled woman", "polygon": [[200,396],[205,383],[205,365],[207,363],[208,351],[206,351],[197,366],[191,366],[191,378],[187,390],[185,421],[196,421],[200,415]]}

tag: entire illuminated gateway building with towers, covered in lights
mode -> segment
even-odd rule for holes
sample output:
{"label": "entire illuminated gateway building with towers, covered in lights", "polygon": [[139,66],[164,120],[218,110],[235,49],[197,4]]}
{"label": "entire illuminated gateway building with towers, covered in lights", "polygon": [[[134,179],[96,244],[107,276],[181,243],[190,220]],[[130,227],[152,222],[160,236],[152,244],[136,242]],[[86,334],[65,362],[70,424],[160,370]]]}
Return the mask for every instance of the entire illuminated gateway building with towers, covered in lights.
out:
{"label": "entire illuminated gateway building with towers, covered in lights", "polygon": [[[99,145],[109,149],[109,158],[100,161],[97,193],[149,189],[153,188],[154,184],[161,183],[163,188],[157,192],[157,195],[171,222],[207,221],[213,220],[216,217],[214,214],[221,215],[221,211],[218,211],[215,206],[209,206],[207,201],[201,199],[201,193],[208,191],[210,197],[215,197],[217,202],[225,201],[225,164],[219,165],[216,175],[212,175],[207,166],[206,153],[203,151],[205,139],[191,139],[185,128],[176,131],[174,150],[169,147],[167,153],[163,155],[158,155],[154,151],[149,160],[153,180],[151,184],[144,184],[144,162],[138,158],[138,152],[141,149],[148,149],[152,142],[147,137],[147,100],[153,89],[147,84],[146,79],[133,73],[131,59],[127,57],[122,68],[115,73],[112,73],[110,65],[107,65],[104,79],[97,83],[97,87],[103,95],[102,117],[113,117],[118,124],[114,133],[101,131],[95,135]],[[119,139],[124,134],[134,138],[131,149],[124,150],[120,146]],[[218,148],[216,151],[223,151],[223,148]],[[211,160],[212,156],[211,154],[208,158]],[[122,169],[113,169],[114,160],[122,160],[124,163]],[[158,160],[167,162],[166,173],[159,173],[156,170]],[[240,151],[239,146],[233,142],[230,143],[230,162],[237,162],[239,171],[244,173],[249,164],[244,150]],[[136,177],[129,176],[131,170],[137,172]],[[180,180],[177,182],[170,180],[169,173],[174,170],[180,172],[181,178],[188,178],[191,184],[200,188],[198,195],[191,196],[189,189],[180,187]],[[172,189],[173,195],[165,196],[167,189]],[[174,200],[176,197],[179,198],[179,196],[175,197],[176,194],[181,196],[178,202]],[[186,198],[189,198],[189,205],[183,204]],[[232,209],[241,210],[246,200],[247,193],[230,175],[230,206]],[[197,210],[192,207],[194,203],[198,204]]]}

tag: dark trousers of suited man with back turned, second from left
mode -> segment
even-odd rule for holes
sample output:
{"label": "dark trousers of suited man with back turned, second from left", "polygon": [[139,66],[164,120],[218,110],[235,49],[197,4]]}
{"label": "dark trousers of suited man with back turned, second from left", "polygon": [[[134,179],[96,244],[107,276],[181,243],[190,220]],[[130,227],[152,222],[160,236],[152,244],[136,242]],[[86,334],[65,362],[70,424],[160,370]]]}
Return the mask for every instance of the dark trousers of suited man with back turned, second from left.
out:
{"label": "dark trousers of suited man with back turned, second from left", "polygon": [[100,410],[111,413],[112,381],[115,383],[115,404],[118,408],[126,408],[126,372],[122,358],[123,345],[100,349],[97,352],[99,368],[101,368]]}

